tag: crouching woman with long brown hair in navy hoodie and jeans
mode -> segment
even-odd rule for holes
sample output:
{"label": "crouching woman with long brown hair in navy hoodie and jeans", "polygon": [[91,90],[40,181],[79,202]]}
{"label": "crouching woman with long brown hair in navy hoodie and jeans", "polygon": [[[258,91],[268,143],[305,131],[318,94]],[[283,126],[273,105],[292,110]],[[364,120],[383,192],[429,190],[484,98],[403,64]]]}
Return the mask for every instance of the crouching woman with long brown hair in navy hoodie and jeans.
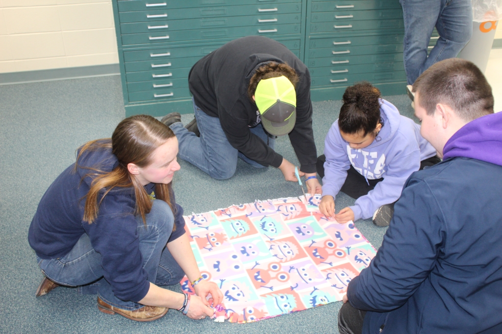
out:
{"label": "crouching woman with long brown hair in navy hoodie and jeans", "polygon": [[[28,232],[45,277],[36,295],[59,285],[97,293],[98,309],[137,321],[169,308],[201,319],[222,301],[203,280],[171,181],[178,140],[147,115],[118,124],[110,139],[86,143],[42,197]],[[167,247],[166,247],[167,245]],[[158,285],[187,275],[197,295]],[[212,300],[206,300],[208,294]]]}

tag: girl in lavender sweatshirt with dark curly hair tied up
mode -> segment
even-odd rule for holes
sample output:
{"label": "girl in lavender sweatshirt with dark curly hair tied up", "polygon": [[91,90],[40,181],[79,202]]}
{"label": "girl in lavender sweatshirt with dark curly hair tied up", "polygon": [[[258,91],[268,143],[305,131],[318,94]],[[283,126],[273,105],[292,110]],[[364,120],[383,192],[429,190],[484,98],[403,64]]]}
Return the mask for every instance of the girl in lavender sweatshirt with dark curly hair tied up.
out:
{"label": "girl in lavender sweatshirt with dark curly hair tied up", "polygon": [[[342,101],[317,161],[323,178],[319,209],[339,223],[372,217],[375,225],[388,226],[408,177],[440,159],[420,136],[420,125],[401,116],[369,83],[347,87]],[[335,214],[340,190],[356,201]]]}

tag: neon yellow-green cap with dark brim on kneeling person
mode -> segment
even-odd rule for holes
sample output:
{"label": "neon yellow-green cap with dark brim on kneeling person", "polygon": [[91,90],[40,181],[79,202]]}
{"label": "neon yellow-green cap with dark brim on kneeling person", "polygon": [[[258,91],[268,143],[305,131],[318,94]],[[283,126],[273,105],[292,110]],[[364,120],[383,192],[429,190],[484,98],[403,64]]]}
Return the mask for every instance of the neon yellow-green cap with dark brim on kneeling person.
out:
{"label": "neon yellow-green cap with dark brim on kneeling person", "polygon": [[261,80],[256,87],[255,102],[262,125],[274,136],[284,136],[296,123],[296,91],[285,76]]}

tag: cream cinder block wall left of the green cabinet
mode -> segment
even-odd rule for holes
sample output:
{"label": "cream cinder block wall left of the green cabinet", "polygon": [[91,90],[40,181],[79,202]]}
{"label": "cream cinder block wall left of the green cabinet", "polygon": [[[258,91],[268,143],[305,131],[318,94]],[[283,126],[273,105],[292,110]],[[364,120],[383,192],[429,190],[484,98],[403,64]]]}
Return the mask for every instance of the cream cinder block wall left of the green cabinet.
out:
{"label": "cream cinder block wall left of the green cabinet", "polygon": [[0,73],[117,63],[111,0],[0,0]]}

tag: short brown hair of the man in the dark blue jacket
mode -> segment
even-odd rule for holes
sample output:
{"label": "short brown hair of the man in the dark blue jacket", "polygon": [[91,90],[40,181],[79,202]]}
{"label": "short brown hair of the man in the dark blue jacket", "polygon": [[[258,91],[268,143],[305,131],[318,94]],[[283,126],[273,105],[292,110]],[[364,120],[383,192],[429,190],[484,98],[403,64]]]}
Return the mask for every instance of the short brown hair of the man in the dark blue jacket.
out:
{"label": "short brown hair of the man in the dark blue jacket", "polygon": [[483,73],[473,63],[450,58],[429,67],[413,84],[420,106],[432,116],[438,103],[453,108],[466,122],[493,114],[493,95]]}

